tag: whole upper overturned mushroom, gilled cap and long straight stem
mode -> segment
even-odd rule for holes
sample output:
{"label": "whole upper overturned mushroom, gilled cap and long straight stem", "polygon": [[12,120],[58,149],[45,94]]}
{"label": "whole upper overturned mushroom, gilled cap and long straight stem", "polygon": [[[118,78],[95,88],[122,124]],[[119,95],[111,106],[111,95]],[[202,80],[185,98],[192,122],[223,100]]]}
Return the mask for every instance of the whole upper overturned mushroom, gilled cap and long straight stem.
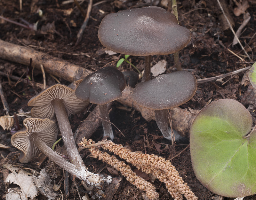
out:
{"label": "whole upper overturned mushroom, gilled cap and long straight stem", "polygon": [[78,84],[77,81],[69,86],[55,84],[32,97],[28,101],[28,106],[34,106],[31,109],[33,117],[52,119],[55,113],[70,162],[87,170],[76,148],[74,135],[68,120],[68,115],[84,110],[89,104],[89,102],[76,98],[75,89]]}

